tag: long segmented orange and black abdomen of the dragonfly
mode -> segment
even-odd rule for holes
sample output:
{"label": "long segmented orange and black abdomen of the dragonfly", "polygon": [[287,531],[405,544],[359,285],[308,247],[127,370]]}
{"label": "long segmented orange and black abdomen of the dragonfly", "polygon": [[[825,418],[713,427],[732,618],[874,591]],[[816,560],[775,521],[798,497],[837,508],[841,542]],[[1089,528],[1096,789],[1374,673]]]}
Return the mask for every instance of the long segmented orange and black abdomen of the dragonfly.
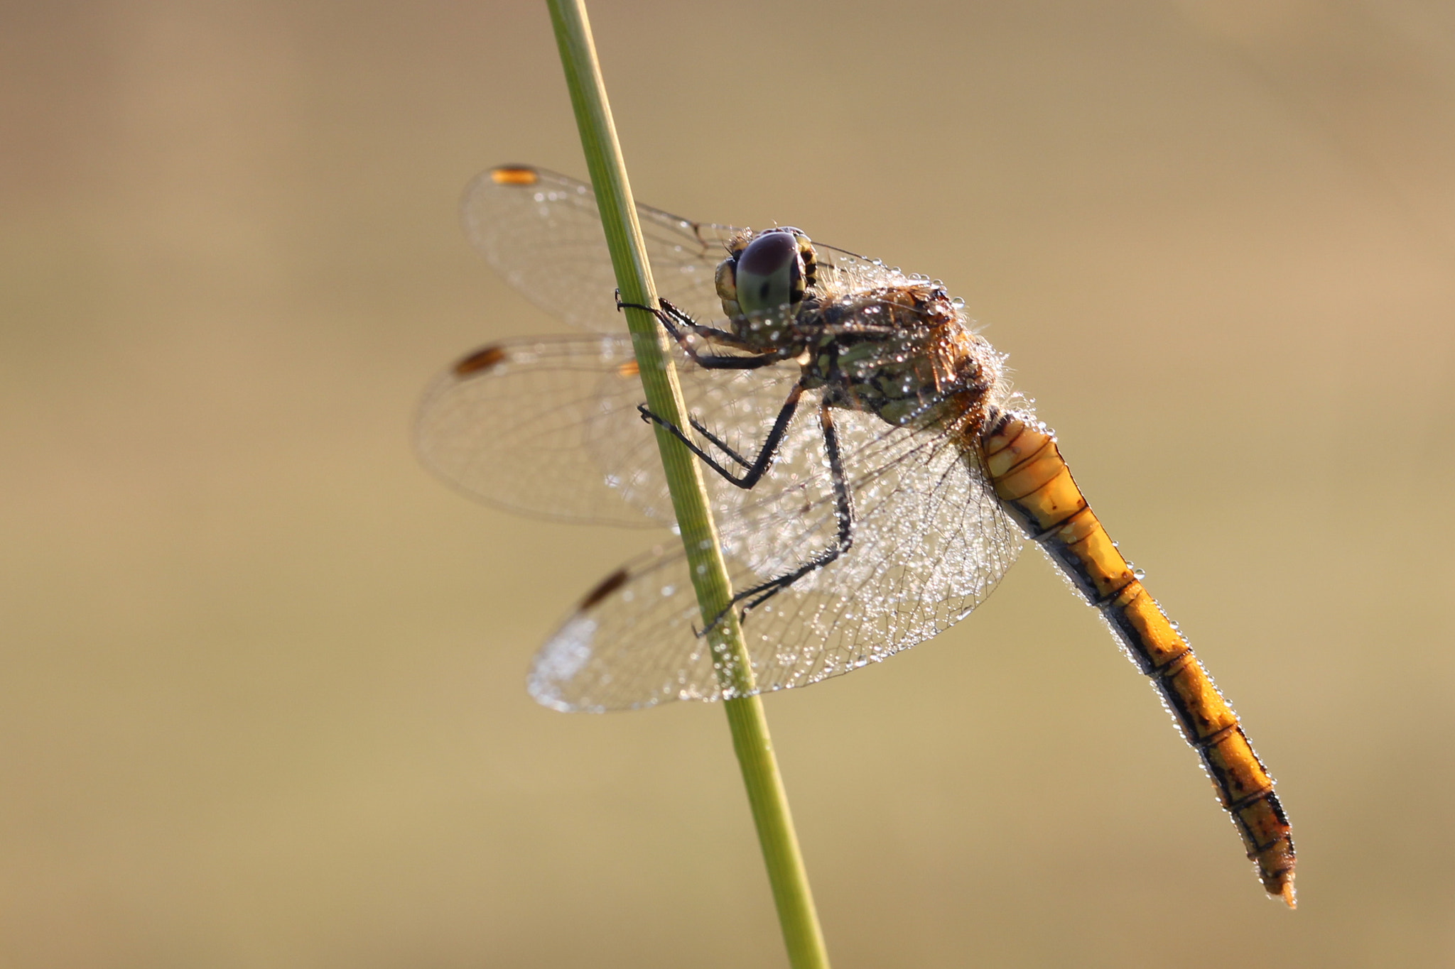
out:
{"label": "long segmented orange and black abdomen of the dragonfly", "polygon": [[1200,754],[1263,886],[1293,905],[1293,841],[1273,779],[1237,713],[1097,520],[1039,423],[997,413],[981,436],[985,466],[1010,516],[1101,610],[1152,678],[1183,737]]}

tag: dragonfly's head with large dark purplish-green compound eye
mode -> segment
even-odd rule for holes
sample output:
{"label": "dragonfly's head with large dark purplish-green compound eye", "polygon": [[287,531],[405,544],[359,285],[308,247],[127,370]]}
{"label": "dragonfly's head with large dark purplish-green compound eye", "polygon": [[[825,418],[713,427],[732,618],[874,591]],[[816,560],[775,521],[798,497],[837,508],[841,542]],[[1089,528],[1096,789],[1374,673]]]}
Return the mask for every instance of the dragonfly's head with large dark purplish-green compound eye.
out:
{"label": "dragonfly's head with large dark purplish-green compound eye", "polygon": [[717,266],[717,296],[729,317],[793,315],[818,277],[809,237],[792,227],[745,231],[728,246]]}

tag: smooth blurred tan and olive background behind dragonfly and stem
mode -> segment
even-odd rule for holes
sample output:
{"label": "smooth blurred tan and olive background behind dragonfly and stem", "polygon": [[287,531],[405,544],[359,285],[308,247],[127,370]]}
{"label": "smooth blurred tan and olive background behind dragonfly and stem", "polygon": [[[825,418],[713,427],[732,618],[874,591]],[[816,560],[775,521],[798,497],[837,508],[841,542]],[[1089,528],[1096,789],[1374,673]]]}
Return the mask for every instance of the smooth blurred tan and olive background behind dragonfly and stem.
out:
{"label": "smooth blurred tan and olive background behind dragonfly and stem", "polygon": [[[714,706],[535,644],[645,532],[473,506],[429,376],[556,324],[534,3],[0,7],[0,963],[776,966]],[[835,965],[1455,963],[1455,7],[598,3],[637,196],[940,276],[1280,782],[1301,908],[1036,554],[767,709]]]}

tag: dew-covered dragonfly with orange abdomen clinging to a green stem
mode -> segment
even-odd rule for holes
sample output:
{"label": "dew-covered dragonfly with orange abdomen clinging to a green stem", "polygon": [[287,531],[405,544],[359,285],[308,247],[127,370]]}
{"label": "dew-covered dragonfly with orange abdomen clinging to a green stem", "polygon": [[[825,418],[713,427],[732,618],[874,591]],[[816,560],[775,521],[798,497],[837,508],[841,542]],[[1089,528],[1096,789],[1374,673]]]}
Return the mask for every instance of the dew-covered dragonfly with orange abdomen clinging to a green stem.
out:
{"label": "dew-covered dragonfly with orange abdomen clinging to a green stem", "polygon": [[671,529],[650,429],[675,436],[701,462],[751,662],[745,683],[722,676],[693,567],[665,542],[551,633],[527,678],[535,700],[601,712],[850,673],[968,616],[1029,539],[1149,677],[1264,889],[1295,905],[1289,821],[1238,716],[940,280],[792,227],[637,206],[661,298],[645,309],[690,414],[678,427],[642,402],[589,185],[501,166],[461,215],[486,260],[581,334],[499,340],[444,370],[416,423],[423,463],[514,511]]}

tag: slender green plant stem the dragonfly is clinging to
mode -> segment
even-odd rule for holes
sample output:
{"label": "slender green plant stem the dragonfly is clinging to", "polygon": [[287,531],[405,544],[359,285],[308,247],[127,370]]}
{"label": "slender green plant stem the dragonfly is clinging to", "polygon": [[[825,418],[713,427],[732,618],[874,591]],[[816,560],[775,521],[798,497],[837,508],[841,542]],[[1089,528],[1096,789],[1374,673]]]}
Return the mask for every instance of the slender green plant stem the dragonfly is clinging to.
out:
{"label": "slender green plant stem the dragonfly is clinging to", "polygon": [[[642,225],[631,199],[631,186],[627,183],[617,129],[611,121],[585,3],[547,0],[547,6],[551,25],[556,28],[566,86],[570,89],[576,125],[581,128],[581,145],[586,154],[591,183],[597,190],[597,206],[601,209],[601,222],[607,234],[607,247],[611,250],[611,263],[617,270],[621,299],[655,307],[656,288],[652,283],[652,267],[642,243]],[[602,299],[605,296],[602,293]],[[677,427],[685,427],[687,408],[666,352],[662,327],[643,309],[627,309],[626,317],[642,370],[647,407]],[[789,963],[794,969],[826,969],[828,952],[824,946],[824,933],[813,908],[813,893],[809,891],[803,854],[793,831],[793,816],[773,754],[773,741],[768,738],[768,721],[761,699],[754,693],[752,664],[748,660],[742,629],[738,617],[728,612],[732,603],[732,585],[707,507],[701,469],[691,452],[661,427],[656,429],[656,440],[682,545],[687,548],[688,568],[703,622],[709,625],[714,617],[723,616],[711,625],[709,642],[723,696],[730,697],[725,700],[728,723],[742,767],[752,819],[758,828],[768,880],[773,885],[773,899],[783,925]]]}

